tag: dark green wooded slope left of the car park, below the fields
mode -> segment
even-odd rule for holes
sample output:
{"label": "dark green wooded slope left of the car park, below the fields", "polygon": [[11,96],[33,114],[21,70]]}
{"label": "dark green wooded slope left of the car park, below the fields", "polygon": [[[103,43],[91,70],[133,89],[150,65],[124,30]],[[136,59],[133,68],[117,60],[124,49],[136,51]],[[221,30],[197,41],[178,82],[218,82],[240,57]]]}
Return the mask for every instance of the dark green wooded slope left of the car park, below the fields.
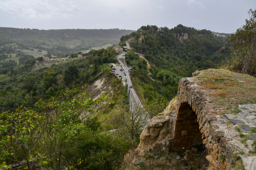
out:
{"label": "dark green wooded slope left of the car park, below the fields", "polygon": [[36,59],[31,55],[20,57],[20,64],[13,60],[0,62],[0,111],[33,107],[39,99],[48,100],[63,93],[66,88],[80,88],[92,83],[103,74],[113,77],[106,63],[116,62],[115,50],[104,48],[91,50],[92,55],[52,64],[39,70],[31,70]]}

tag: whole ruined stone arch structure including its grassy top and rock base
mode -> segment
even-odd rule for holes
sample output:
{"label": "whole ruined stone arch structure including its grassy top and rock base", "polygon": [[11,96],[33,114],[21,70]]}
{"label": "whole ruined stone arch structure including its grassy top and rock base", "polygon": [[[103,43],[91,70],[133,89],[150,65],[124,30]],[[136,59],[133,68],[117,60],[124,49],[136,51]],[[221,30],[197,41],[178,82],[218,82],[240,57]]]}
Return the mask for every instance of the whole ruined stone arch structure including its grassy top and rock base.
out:
{"label": "whole ruined stone arch structure including its grassy top and rock base", "polygon": [[198,144],[205,149],[203,169],[256,169],[256,78],[214,69],[193,76],[180,79],[175,110],[158,114],[143,130],[127,169],[139,167],[139,160],[157,163],[144,159],[148,151],[165,153],[164,160],[183,151],[196,160],[191,148]]}

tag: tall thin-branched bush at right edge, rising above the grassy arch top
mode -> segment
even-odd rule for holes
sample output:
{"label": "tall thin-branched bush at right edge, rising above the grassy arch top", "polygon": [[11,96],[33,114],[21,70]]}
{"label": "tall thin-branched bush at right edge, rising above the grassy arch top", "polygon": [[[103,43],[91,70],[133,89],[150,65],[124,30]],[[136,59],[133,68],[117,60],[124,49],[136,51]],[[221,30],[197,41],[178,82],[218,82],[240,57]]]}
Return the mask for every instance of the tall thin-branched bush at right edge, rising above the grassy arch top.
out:
{"label": "tall thin-branched bush at right edge, rising above the grassy arch top", "polygon": [[245,25],[231,34],[232,59],[227,63],[231,70],[256,77],[256,11],[249,10]]}

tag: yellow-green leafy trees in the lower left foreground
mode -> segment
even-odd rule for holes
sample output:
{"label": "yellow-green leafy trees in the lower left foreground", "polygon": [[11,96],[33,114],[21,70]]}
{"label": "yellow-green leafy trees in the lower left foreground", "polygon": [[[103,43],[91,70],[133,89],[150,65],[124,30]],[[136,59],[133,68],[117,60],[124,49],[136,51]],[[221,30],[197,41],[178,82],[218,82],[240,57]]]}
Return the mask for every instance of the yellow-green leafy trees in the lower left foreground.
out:
{"label": "yellow-green leafy trees in the lower left foreground", "polygon": [[[61,144],[86,131],[87,124],[100,120],[108,108],[108,95],[93,101],[88,92],[74,89],[47,102],[39,100],[35,106],[37,111],[18,108],[0,113],[0,168],[18,163],[22,169],[30,170],[49,163],[51,169],[65,169]],[[79,162],[81,159],[75,165]]]}

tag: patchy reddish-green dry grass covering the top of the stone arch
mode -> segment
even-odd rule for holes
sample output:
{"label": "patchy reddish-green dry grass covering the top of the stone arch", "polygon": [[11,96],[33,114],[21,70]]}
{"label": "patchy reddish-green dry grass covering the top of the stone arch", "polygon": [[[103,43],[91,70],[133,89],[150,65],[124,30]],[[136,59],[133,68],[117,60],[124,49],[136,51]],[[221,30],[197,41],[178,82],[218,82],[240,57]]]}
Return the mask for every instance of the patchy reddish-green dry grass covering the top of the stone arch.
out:
{"label": "patchy reddish-green dry grass covering the top of the stone arch", "polygon": [[[218,115],[239,113],[239,104],[256,103],[256,78],[229,70],[209,69],[193,77],[209,99],[209,112]],[[220,110],[220,112],[217,112]]]}

